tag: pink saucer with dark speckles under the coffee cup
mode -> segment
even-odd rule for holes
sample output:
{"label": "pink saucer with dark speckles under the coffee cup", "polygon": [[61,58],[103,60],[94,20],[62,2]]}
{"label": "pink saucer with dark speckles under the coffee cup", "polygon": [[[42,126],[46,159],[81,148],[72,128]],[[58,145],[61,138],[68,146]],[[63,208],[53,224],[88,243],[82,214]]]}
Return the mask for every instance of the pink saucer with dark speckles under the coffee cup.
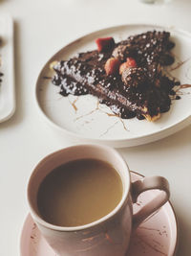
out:
{"label": "pink saucer with dark speckles under the coffee cup", "polygon": [[[132,181],[142,177],[131,172]],[[155,192],[145,192],[138,197],[135,211],[147,201],[155,198]],[[138,226],[132,235],[126,256],[173,256],[176,253],[178,236],[177,221],[170,202],[167,202],[153,216]],[[58,256],[41,236],[36,224],[28,215],[21,234],[21,256]]]}

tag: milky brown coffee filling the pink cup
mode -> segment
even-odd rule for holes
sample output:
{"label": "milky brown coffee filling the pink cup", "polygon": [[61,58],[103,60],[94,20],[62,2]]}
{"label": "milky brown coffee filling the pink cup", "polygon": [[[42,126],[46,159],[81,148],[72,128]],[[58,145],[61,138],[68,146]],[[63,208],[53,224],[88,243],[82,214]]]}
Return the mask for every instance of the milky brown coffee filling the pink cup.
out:
{"label": "milky brown coffee filling the pink cup", "polygon": [[101,160],[78,159],[56,167],[38,189],[43,220],[58,226],[79,226],[112,212],[122,198],[117,170]]}

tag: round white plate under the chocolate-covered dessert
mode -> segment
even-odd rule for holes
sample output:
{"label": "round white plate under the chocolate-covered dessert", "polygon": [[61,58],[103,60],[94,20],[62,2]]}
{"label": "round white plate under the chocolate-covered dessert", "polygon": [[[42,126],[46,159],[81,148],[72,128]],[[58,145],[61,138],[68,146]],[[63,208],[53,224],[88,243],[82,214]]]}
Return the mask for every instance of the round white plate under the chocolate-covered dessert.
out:
{"label": "round white plate under the chocolate-covered dessert", "polygon": [[[149,143],[168,136],[191,123],[191,87],[181,89],[181,99],[173,101],[170,111],[161,115],[159,121],[150,123],[137,118],[122,120],[110,115],[112,111],[106,105],[97,105],[96,97],[85,95],[62,97],[59,88],[50,80],[53,71],[49,66],[53,60],[68,59],[76,53],[96,48],[97,37],[114,36],[115,40],[125,39],[149,30],[171,32],[176,47],[176,67],[179,61],[187,60],[171,72],[181,83],[191,83],[191,34],[173,28],[151,25],[123,25],[85,35],[62,48],[43,67],[36,83],[36,100],[40,112],[63,134],[81,142],[101,143],[113,147],[131,147]],[[109,114],[108,114],[109,113]]]}

